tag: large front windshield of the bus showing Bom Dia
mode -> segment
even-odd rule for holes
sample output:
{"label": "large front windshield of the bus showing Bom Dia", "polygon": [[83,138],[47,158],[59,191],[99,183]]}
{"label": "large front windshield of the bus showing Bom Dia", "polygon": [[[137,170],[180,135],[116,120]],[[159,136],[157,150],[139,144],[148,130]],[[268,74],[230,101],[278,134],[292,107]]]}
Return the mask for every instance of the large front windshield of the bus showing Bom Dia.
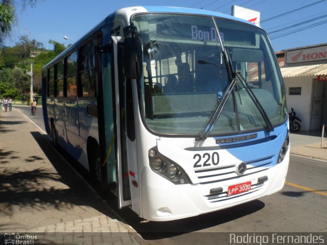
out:
{"label": "large front windshield of the bus showing Bom Dia", "polygon": [[196,136],[207,127],[231,83],[224,48],[236,84],[208,136],[263,130],[267,119],[273,126],[286,121],[282,77],[262,29],[183,14],[137,14],[132,22],[143,41],[140,108],[152,132]]}

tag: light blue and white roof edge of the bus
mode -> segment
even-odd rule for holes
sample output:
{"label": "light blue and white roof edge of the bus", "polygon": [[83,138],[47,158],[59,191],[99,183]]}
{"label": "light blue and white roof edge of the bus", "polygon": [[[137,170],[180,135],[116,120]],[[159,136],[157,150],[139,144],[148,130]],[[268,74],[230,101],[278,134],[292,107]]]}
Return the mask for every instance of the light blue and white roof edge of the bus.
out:
{"label": "light blue and white roof edge of the bus", "polygon": [[[86,38],[90,37],[92,34],[94,34],[96,31],[98,31],[101,27],[105,26],[109,22],[112,22],[113,20],[125,20],[129,21],[129,18],[132,14],[135,13],[183,13],[183,14],[195,14],[195,15],[206,15],[206,16],[215,16],[215,17],[221,17],[221,18],[227,18],[231,20],[236,20],[248,24],[253,24],[247,20],[240,19],[231,15],[222,14],[214,11],[208,11],[208,10],[202,10],[202,9],[192,9],[192,8],[182,8],[182,7],[166,7],[166,6],[134,6],[134,7],[127,7],[122,8],[119,10],[114,11],[110,15],[108,15],[104,20],[102,20],[95,28],[90,30],[86,35],[81,37],[79,40],[74,42],[73,45],[66,48],[65,51],[63,51],[60,55],[58,55],[56,58],[54,58],[52,61],[50,61],[48,64],[44,65],[44,68],[50,66],[54,61],[59,60],[60,58],[64,57],[65,55],[71,53],[76,47],[78,47],[81,42],[83,42]],[[125,18],[124,18],[125,17]]]}

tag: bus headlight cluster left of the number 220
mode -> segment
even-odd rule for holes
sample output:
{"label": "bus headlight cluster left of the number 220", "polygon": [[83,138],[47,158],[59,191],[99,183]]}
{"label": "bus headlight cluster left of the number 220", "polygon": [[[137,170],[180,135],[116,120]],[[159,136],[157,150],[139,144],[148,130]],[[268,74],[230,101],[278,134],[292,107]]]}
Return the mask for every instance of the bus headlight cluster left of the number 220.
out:
{"label": "bus headlight cluster left of the number 220", "polygon": [[191,180],[177,163],[161,155],[156,146],[149,150],[149,163],[151,169],[158,175],[165,177],[174,184],[189,184]]}

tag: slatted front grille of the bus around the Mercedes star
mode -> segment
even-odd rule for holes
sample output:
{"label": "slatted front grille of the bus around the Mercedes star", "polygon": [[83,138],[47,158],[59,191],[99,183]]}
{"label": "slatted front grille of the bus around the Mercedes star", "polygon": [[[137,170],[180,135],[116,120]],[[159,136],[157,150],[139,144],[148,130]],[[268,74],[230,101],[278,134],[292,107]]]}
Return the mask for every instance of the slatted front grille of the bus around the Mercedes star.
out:
{"label": "slatted front grille of the bus around the Mercedes star", "polygon": [[202,184],[215,183],[259,173],[275,165],[273,163],[273,156],[268,156],[265,158],[256,159],[245,163],[247,165],[247,169],[245,171],[245,174],[241,176],[236,173],[235,164],[224,167],[195,170],[195,174],[198,177],[200,183]]}

